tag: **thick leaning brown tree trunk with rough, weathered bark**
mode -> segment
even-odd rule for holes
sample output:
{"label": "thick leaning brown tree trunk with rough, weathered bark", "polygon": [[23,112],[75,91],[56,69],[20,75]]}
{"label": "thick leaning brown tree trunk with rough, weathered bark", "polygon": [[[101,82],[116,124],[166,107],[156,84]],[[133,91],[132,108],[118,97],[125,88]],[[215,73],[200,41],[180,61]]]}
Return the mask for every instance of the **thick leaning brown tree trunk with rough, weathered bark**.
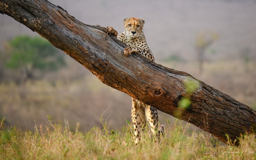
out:
{"label": "thick leaning brown tree trunk with rough, weathered bark", "polygon": [[[256,113],[250,107],[188,73],[150,62],[139,54],[124,57],[125,45],[108,36],[105,28],[86,25],[59,6],[46,0],[0,0],[0,11],[48,39],[102,83],[189,121],[226,144],[226,134],[234,141],[241,133],[255,132]],[[187,81],[198,85],[194,92],[187,92]],[[178,107],[182,97],[189,97],[188,108]]]}

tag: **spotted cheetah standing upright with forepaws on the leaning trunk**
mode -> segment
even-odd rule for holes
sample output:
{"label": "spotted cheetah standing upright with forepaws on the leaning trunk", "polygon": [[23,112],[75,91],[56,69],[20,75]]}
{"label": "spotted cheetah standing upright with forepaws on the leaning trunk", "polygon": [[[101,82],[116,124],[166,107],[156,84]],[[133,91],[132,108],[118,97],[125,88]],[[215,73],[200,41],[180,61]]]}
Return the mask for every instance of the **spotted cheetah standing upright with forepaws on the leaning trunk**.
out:
{"label": "spotted cheetah standing upright with forepaws on the leaning trunk", "polygon": [[[133,17],[124,19],[124,32],[117,38],[124,44],[128,45],[128,47],[124,48],[125,57],[128,57],[134,52],[139,53],[152,62],[155,62],[155,58],[148,47],[146,38],[142,31],[144,23],[145,20],[143,19]],[[112,27],[107,27],[106,33],[112,36],[117,36],[117,31]],[[136,145],[140,142],[141,130],[148,123],[151,131],[153,134],[156,134],[157,137],[163,134],[164,125],[161,125],[158,130],[157,109],[132,98],[132,124],[134,127]]]}

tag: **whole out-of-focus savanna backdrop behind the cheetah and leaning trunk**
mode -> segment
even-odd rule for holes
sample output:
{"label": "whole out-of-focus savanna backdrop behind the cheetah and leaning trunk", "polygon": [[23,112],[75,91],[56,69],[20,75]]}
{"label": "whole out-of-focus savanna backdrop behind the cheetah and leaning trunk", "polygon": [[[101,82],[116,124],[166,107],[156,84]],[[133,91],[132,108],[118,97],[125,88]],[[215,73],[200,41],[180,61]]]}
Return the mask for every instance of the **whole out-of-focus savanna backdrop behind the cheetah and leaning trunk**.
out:
{"label": "whole out-of-focus savanna backdrop behind the cheetah and leaning trunk", "polygon": [[[89,25],[145,19],[156,63],[185,71],[256,109],[255,0],[50,0]],[[131,98],[102,84],[86,68],[37,33],[0,14],[0,117],[21,130],[46,124],[46,115],[75,129],[119,130],[131,121]],[[158,111],[160,123],[173,117]],[[196,130],[196,127],[195,127]]]}

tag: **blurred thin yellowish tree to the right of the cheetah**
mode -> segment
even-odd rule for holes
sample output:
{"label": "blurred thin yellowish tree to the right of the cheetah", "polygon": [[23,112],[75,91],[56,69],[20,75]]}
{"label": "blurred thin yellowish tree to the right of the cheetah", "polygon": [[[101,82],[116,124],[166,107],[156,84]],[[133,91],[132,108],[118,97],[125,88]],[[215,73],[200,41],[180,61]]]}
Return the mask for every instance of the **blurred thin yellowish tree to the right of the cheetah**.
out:
{"label": "blurred thin yellowish tree to the right of the cheetah", "polygon": [[204,52],[205,50],[216,40],[219,39],[217,33],[203,31],[199,33],[196,37],[196,52],[198,54],[199,62],[199,73],[203,72],[203,63],[204,63]]}

